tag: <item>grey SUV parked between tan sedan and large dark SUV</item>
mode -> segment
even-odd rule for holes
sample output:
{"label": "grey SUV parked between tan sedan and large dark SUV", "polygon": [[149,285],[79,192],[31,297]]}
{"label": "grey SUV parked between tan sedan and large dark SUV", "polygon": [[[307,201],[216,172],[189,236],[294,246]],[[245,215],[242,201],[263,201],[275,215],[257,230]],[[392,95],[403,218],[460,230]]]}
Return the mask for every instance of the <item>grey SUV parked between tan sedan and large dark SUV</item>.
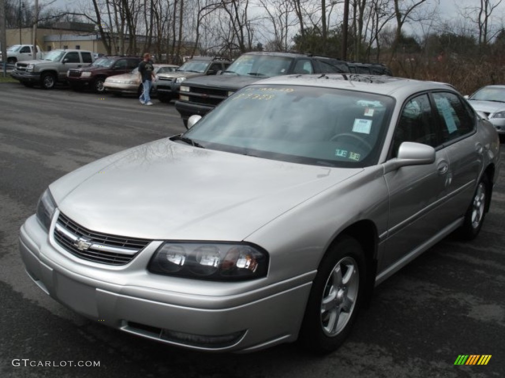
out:
{"label": "grey SUV parked between tan sedan and large dark SUV", "polygon": [[195,56],[186,61],[175,72],[158,74],[155,89],[158,99],[169,102],[177,98],[181,83],[189,78],[198,76],[216,75],[219,71],[225,71],[231,65],[228,58],[215,56]]}

